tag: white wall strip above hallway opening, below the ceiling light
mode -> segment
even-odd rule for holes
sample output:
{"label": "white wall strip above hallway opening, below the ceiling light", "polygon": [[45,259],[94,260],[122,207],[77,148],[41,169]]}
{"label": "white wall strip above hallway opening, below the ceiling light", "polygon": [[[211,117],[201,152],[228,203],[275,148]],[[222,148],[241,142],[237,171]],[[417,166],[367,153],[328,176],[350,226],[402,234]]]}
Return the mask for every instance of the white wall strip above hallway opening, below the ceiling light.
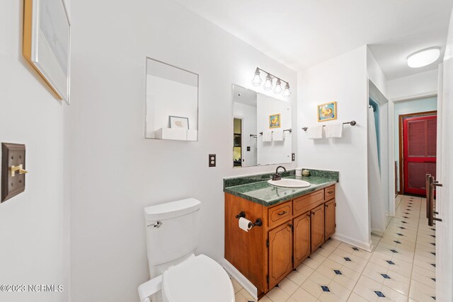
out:
{"label": "white wall strip above hallway opening, below the ceiling light", "polygon": [[408,100],[437,94],[437,69],[387,82],[389,100]]}

